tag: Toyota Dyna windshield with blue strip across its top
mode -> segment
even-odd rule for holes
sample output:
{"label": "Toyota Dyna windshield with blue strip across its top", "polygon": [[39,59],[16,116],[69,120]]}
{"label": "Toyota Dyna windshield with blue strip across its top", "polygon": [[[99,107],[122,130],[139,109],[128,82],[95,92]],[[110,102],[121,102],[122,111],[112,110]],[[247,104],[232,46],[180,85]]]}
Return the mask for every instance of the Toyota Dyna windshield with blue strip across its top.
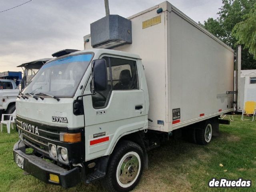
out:
{"label": "Toyota Dyna windshield with blue strip across its top", "polygon": [[81,54],[48,62],[22,93],[73,97],[91,59],[92,54]]}

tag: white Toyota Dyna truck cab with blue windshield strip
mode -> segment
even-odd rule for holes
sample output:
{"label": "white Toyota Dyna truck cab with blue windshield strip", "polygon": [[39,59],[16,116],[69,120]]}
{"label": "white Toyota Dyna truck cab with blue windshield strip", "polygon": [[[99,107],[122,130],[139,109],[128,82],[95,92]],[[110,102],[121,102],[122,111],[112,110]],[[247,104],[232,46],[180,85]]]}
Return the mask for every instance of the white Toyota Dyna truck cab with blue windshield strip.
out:
{"label": "white Toyota Dyna truck cab with blue windshield strip", "polygon": [[[57,55],[22,91],[26,98],[16,101],[20,141],[14,158],[44,182],[71,187],[105,176],[121,138],[147,129],[148,90],[136,54],[92,49]],[[33,154],[26,154],[28,147]],[[137,150],[125,156],[138,164],[130,167],[134,178],[141,175],[144,159]]]}

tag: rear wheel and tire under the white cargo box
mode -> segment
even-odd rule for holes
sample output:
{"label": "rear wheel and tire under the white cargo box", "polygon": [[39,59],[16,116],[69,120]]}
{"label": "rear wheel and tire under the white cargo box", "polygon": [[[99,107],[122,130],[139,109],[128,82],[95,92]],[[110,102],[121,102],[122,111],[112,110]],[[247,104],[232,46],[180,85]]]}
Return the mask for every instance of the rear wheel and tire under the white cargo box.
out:
{"label": "rear wheel and tire under the white cargo box", "polygon": [[196,130],[196,141],[200,145],[207,145],[212,140],[212,123],[209,120],[202,122],[201,129]]}

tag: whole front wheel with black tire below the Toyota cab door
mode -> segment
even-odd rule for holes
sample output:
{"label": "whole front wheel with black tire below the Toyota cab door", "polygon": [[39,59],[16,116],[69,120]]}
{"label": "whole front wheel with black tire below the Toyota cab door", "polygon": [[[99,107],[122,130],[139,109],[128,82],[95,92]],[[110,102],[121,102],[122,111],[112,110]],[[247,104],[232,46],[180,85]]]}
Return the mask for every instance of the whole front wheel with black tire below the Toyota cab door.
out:
{"label": "whole front wheel with black tire below the Toyota cab door", "polygon": [[131,141],[120,141],[112,153],[102,184],[110,192],[128,192],[138,184],[143,168],[142,148]]}

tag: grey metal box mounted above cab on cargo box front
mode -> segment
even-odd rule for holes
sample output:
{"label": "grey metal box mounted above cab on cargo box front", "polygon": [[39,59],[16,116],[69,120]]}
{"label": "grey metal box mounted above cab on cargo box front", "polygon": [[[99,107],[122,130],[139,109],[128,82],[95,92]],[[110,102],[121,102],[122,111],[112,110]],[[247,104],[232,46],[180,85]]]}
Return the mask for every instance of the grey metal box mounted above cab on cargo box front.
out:
{"label": "grey metal box mounted above cab on cargo box front", "polygon": [[93,48],[114,48],[132,43],[132,22],[119,15],[109,15],[91,24]]}

